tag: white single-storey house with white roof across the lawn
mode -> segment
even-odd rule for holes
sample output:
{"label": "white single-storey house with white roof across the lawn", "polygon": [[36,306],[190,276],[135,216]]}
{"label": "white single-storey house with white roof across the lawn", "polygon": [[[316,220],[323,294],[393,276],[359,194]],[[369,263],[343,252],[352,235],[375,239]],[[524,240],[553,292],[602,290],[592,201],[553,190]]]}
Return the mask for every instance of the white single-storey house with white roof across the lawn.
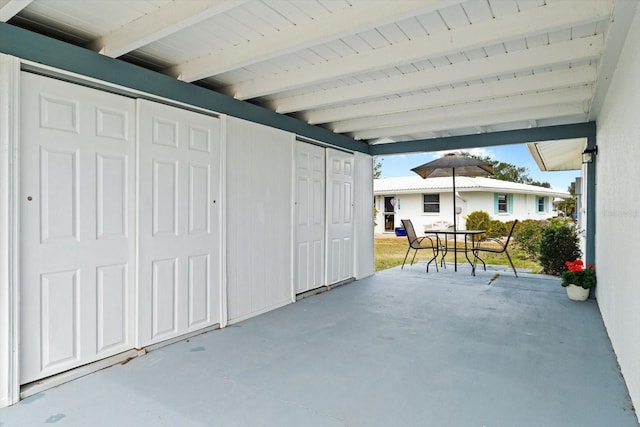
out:
{"label": "white single-storey house with white roof across the lawn", "polygon": [[[373,183],[377,209],[375,233],[390,233],[410,219],[416,229],[432,229],[453,223],[452,179],[419,176],[382,178]],[[484,177],[456,177],[458,228],[465,228],[471,212],[487,212],[492,219],[547,219],[558,215],[555,198],[569,198],[567,191]]]}

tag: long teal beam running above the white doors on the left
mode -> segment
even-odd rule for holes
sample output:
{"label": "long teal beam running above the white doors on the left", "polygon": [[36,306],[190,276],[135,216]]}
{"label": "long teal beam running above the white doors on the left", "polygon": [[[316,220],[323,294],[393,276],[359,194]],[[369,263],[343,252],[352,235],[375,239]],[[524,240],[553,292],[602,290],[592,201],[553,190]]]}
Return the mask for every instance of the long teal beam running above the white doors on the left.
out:
{"label": "long teal beam running above the white doors on the left", "polygon": [[4,22],[0,22],[0,53],[228,114],[347,150],[369,152],[368,144],[345,135]]}

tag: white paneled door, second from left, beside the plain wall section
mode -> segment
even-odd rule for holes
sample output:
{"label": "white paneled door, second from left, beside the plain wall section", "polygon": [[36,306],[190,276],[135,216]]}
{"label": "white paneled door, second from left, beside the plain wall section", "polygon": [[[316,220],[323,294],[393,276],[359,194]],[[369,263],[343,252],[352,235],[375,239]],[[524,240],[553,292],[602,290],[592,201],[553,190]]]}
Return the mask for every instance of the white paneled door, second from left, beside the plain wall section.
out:
{"label": "white paneled door, second from left, beside the plain wall section", "polygon": [[138,346],[220,322],[220,120],[138,101]]}

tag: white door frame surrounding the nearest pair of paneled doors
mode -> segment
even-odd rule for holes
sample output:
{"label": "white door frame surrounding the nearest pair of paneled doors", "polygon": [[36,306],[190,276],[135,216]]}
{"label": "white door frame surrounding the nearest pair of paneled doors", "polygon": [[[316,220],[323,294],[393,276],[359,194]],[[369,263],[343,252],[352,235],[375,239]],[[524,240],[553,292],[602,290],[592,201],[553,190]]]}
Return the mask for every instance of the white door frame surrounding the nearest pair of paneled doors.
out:
{"label": "white door frame surrounding the nearest pair of paneled doors", "polygon": [[[40,75],[59,78],[69,83],[87,86],[92,89],[112,92],[134,99],[147,99],[154,102],[171,105],[188,111],[217,117],[221,120],[221,147],[219,170],[220,194],[220,248],[217,272],[220,281],[220,327],[227,326],[226,307],[226,260],[225,260],[225,208],[226,191],[224,176],[226,173],[226,115],[216,111],[197,107],[141,92],[135,89],[118,86],[107,81],[83,76],[70,71],[50,67],[25,60],[16,56],[0,53],[0,378],[7,381],[0,382],[0,408],[13,405],[20,401],[20,96],[21,73],[23,71],[36,72]],[[138,141],[136,139],[136,145]],[[137,148],[136,148],[137,151]],[[135,159],[137,163],[138,159]],[[136,166],[136,191],[137,191]],[[138,197],[136,195],[136,197]],[[136,201],[137,233],[137,201]],[[136,278],[137,278],[137,265]],[[138,293],[135,283],[136,295]],[[137,304],[137,302],[136,302]],[[137,307],[136,307],[137,310]],[[206,330],[206,328],[205,328]],[[185,338],[189,334],[185,335]],[[168,343],[174,340],[169,340]],[[95,363],[99,363],[95,362]]]}

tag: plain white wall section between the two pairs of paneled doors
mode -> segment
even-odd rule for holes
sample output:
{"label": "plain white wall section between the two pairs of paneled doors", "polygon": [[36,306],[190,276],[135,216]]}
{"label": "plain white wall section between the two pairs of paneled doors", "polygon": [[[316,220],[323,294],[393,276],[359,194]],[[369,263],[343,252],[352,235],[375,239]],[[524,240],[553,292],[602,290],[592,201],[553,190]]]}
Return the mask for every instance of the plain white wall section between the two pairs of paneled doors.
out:
{"label": "plain white wall section between the two pairs of paneled doors", "polygon": [[290,133],[227,119],[226,275],[230,322],[292,302]]}

